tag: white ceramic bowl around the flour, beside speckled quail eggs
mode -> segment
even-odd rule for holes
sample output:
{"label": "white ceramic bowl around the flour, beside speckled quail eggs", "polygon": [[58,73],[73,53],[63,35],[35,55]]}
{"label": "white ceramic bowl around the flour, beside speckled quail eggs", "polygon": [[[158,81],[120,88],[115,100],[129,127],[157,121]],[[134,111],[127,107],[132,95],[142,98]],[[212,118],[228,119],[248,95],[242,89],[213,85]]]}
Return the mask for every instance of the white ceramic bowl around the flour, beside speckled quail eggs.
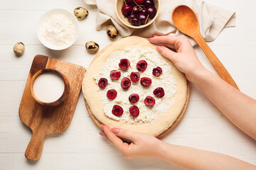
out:
{"label": "white ceramic bowl around the flour, beside speckled quail eggs", "polygon": [[[53,15],[54,13],[63,13],[65,14],[66,16],[70,17],[71,20],[74,21],[74,24],[75,24],[75,36],[73,38],[72,41],[70,41],[68,44],[66,45],[63,45],[63,46],[55,46],[55,45],[52,45],[50,44],[49,42],[47,42],[43,36],[42,36],[42,31],[41,31],[41,28],[43,28],[43,23],[46,22],[46,20],[51,16]],[[69,11],[65,10],[65,9],[62,9],[62,8],[55,8],[55,9],[52,9],[50,11],[47,11],[46,13],[43,14],[43,16],[41,16],[39,22],[38,22],[38,25],[37,25],[37,28],[36,28],[36,33],[38,35],[38,38],[39,40],[41,41],[41,43],[50,48],[51,50],[64,50],[68,47],[70,47],[71,45],[74,44],[75,40],[77,40],[78,38],[78,33],[79,33],[79,28],[78,28],[78,19],[75,18],[75,16],[73,15],[73,13],[70,13]]]}

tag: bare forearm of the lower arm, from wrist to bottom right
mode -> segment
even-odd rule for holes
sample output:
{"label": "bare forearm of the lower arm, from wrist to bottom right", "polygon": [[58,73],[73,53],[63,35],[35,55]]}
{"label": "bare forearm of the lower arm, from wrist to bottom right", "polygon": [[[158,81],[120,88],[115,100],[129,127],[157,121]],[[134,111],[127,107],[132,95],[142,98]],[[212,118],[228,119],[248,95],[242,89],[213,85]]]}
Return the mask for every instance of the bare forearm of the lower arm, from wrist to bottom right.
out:
{"label": "bare forearm of the lower arm, from wrist to bottom right", "polygon": [[174,164],[181,169],[189,170],[256,169],[256,166],[252,164],[225,154],[171,145],[166,142],[161,142],[158,158]]}

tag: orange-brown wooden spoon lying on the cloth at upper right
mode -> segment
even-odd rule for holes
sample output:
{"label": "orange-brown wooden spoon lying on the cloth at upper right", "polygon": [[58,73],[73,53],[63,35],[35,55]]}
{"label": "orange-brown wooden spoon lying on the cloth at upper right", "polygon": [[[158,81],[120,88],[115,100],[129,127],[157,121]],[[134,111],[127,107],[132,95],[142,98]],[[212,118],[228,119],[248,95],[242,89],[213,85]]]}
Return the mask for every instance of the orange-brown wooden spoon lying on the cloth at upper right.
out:
{"label": "orange-brown wooden spoon lying on the cloth at upper right", "polygon": [[[238,89],[238,86],[235,84],[235,81],[232,79],[227,69],[223,66],[223,64],[218,60],[210,47],[206,44],[206,41],[203,40],[203,37],[200,33],[198,18],[196,17],[196,13],[189,8],[188,6],[176,6],[172,13],[172,20],[174,21],[174,25],[181,33],[184,33],[198,43],[198,45],[202,48],[203,52],[210,60],[210,63],[213,64],[213,67],[218,72],[220,77],[227,81],[228,84]],[[238,89],[239,90],[239,89]]]}

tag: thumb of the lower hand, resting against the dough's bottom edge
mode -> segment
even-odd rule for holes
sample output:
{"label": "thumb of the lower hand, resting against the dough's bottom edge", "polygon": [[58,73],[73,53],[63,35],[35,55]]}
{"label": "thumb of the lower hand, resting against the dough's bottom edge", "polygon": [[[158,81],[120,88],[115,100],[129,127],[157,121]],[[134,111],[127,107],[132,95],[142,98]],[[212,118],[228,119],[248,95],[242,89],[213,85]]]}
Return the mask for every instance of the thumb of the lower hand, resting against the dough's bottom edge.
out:
{"label": "thumb of the lower hand, resting against the dough's bottom edge", "polygon": [[132,142],[137,140],[137,138],[139,137],[139,133],[132,132],[132,131],[129,131],[129,130],[124,130],[124,129],[121,129],[121,128],[112,128],[111,131],[115,135],[117,135],[118,137],[121,137],[125,140],[130,140]]}

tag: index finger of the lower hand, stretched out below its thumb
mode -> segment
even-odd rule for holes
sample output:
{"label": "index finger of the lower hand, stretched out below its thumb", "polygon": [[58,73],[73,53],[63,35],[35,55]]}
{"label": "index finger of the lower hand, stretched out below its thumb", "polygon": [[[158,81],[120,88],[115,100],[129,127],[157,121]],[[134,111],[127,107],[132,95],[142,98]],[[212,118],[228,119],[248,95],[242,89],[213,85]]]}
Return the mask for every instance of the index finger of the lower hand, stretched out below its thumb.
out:
{"label": "index finger of the lower hand, stretched out below its thumb", "polygon": [[110,128],[108,128],[106,125],[101,125],[100,128],[102,128],[102,130],[105,132],[105,135],[107,135],[107,138],[110,140],[110,142],[112,142],[112,144],[117,147],[117,149],[122,150],[124,149],[124,142],[122,142],[122,140],[117,137],[116,135],[114,135],[114,133],[110,130]]}

